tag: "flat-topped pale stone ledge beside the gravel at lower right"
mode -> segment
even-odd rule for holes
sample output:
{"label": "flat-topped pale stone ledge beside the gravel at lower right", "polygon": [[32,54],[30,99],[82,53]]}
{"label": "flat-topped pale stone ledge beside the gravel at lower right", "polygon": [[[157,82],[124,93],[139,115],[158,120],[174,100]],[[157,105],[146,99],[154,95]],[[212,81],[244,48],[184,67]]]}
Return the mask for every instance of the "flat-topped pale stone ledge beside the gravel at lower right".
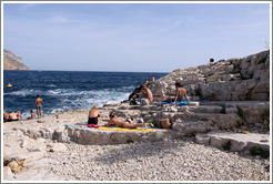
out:
{"label": "flat-topped pale stone ledge beside the gravel at lower right", "polygon": [[200,144],[213,145],[220,149],[225,146],[225,150],[245,154],[250,154],[254,145],[259,145],[263,151],[270,151],[269,134],[209,132],[196,134],[195,141]]}

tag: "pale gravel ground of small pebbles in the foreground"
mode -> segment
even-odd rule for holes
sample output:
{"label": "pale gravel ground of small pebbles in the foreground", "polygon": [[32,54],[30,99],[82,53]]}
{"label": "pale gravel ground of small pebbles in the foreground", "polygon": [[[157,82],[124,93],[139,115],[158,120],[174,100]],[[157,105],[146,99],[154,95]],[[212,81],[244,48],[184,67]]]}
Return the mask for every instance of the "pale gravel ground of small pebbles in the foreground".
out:
{"label": "pale gravel ground of small pebbles in the foreground", "polygon": [[120,145],[67,144],[49,173],[70,181],[269,181],[270,159],[176,140]]}

